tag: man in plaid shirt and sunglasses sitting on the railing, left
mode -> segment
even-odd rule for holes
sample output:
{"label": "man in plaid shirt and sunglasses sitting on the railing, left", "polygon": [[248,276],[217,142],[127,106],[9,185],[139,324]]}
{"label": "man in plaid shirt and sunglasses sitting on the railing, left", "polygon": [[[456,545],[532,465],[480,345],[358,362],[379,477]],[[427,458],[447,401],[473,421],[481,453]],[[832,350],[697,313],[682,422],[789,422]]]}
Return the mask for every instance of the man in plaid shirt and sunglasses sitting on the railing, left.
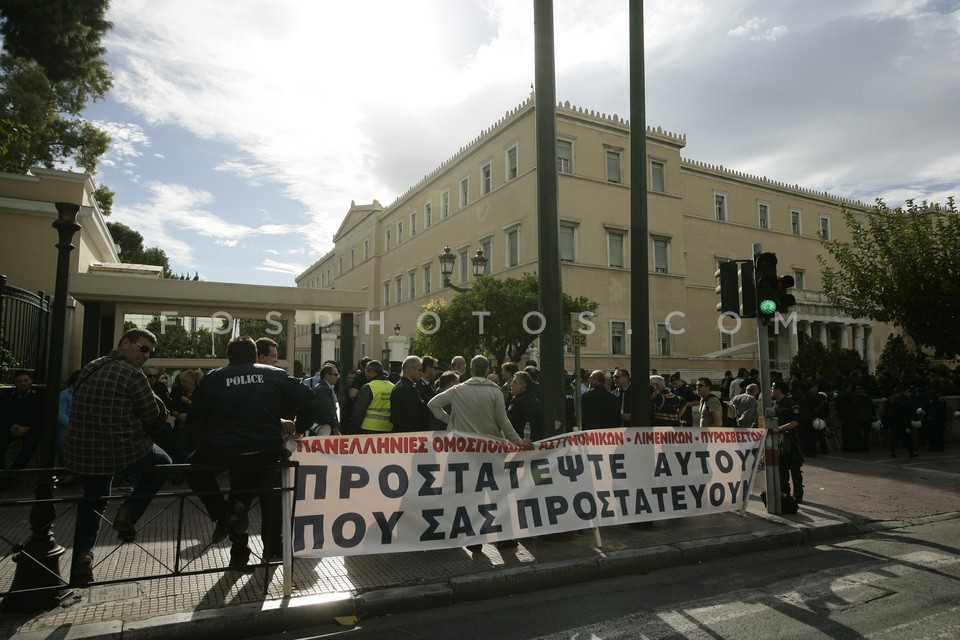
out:
{"label": "man in plaid shirt and sunglasses sitting on the railing, left", "polygon": [[136,522],[165,479],[151,473],[154,465],[170,464],[170,456],[151,435],[166,424],[167,409],[141,371],[156,350],[149,331],[132,329],[117,348],[80,371],[70,412],[66,467],[83,484],[73,541],[71,583],[93,581],[93,548],[100,532],[113,476],[142,474],[129,498],[120,503],[113,529],[124,542],[136,538]]}

